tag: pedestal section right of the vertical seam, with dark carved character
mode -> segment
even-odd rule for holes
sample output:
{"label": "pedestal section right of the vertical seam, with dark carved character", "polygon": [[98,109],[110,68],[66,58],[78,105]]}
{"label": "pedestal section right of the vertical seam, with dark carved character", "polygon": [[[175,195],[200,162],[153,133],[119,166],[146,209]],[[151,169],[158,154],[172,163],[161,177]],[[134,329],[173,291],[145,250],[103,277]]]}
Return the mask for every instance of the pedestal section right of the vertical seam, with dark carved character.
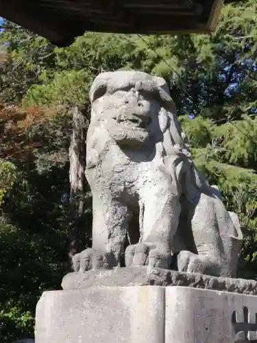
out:
{"label": "pedestal section right of the vertical seam, with dark carved character", "polygon": [[167,287],[165,299],[167,343],[256,342],[256,296]]}

